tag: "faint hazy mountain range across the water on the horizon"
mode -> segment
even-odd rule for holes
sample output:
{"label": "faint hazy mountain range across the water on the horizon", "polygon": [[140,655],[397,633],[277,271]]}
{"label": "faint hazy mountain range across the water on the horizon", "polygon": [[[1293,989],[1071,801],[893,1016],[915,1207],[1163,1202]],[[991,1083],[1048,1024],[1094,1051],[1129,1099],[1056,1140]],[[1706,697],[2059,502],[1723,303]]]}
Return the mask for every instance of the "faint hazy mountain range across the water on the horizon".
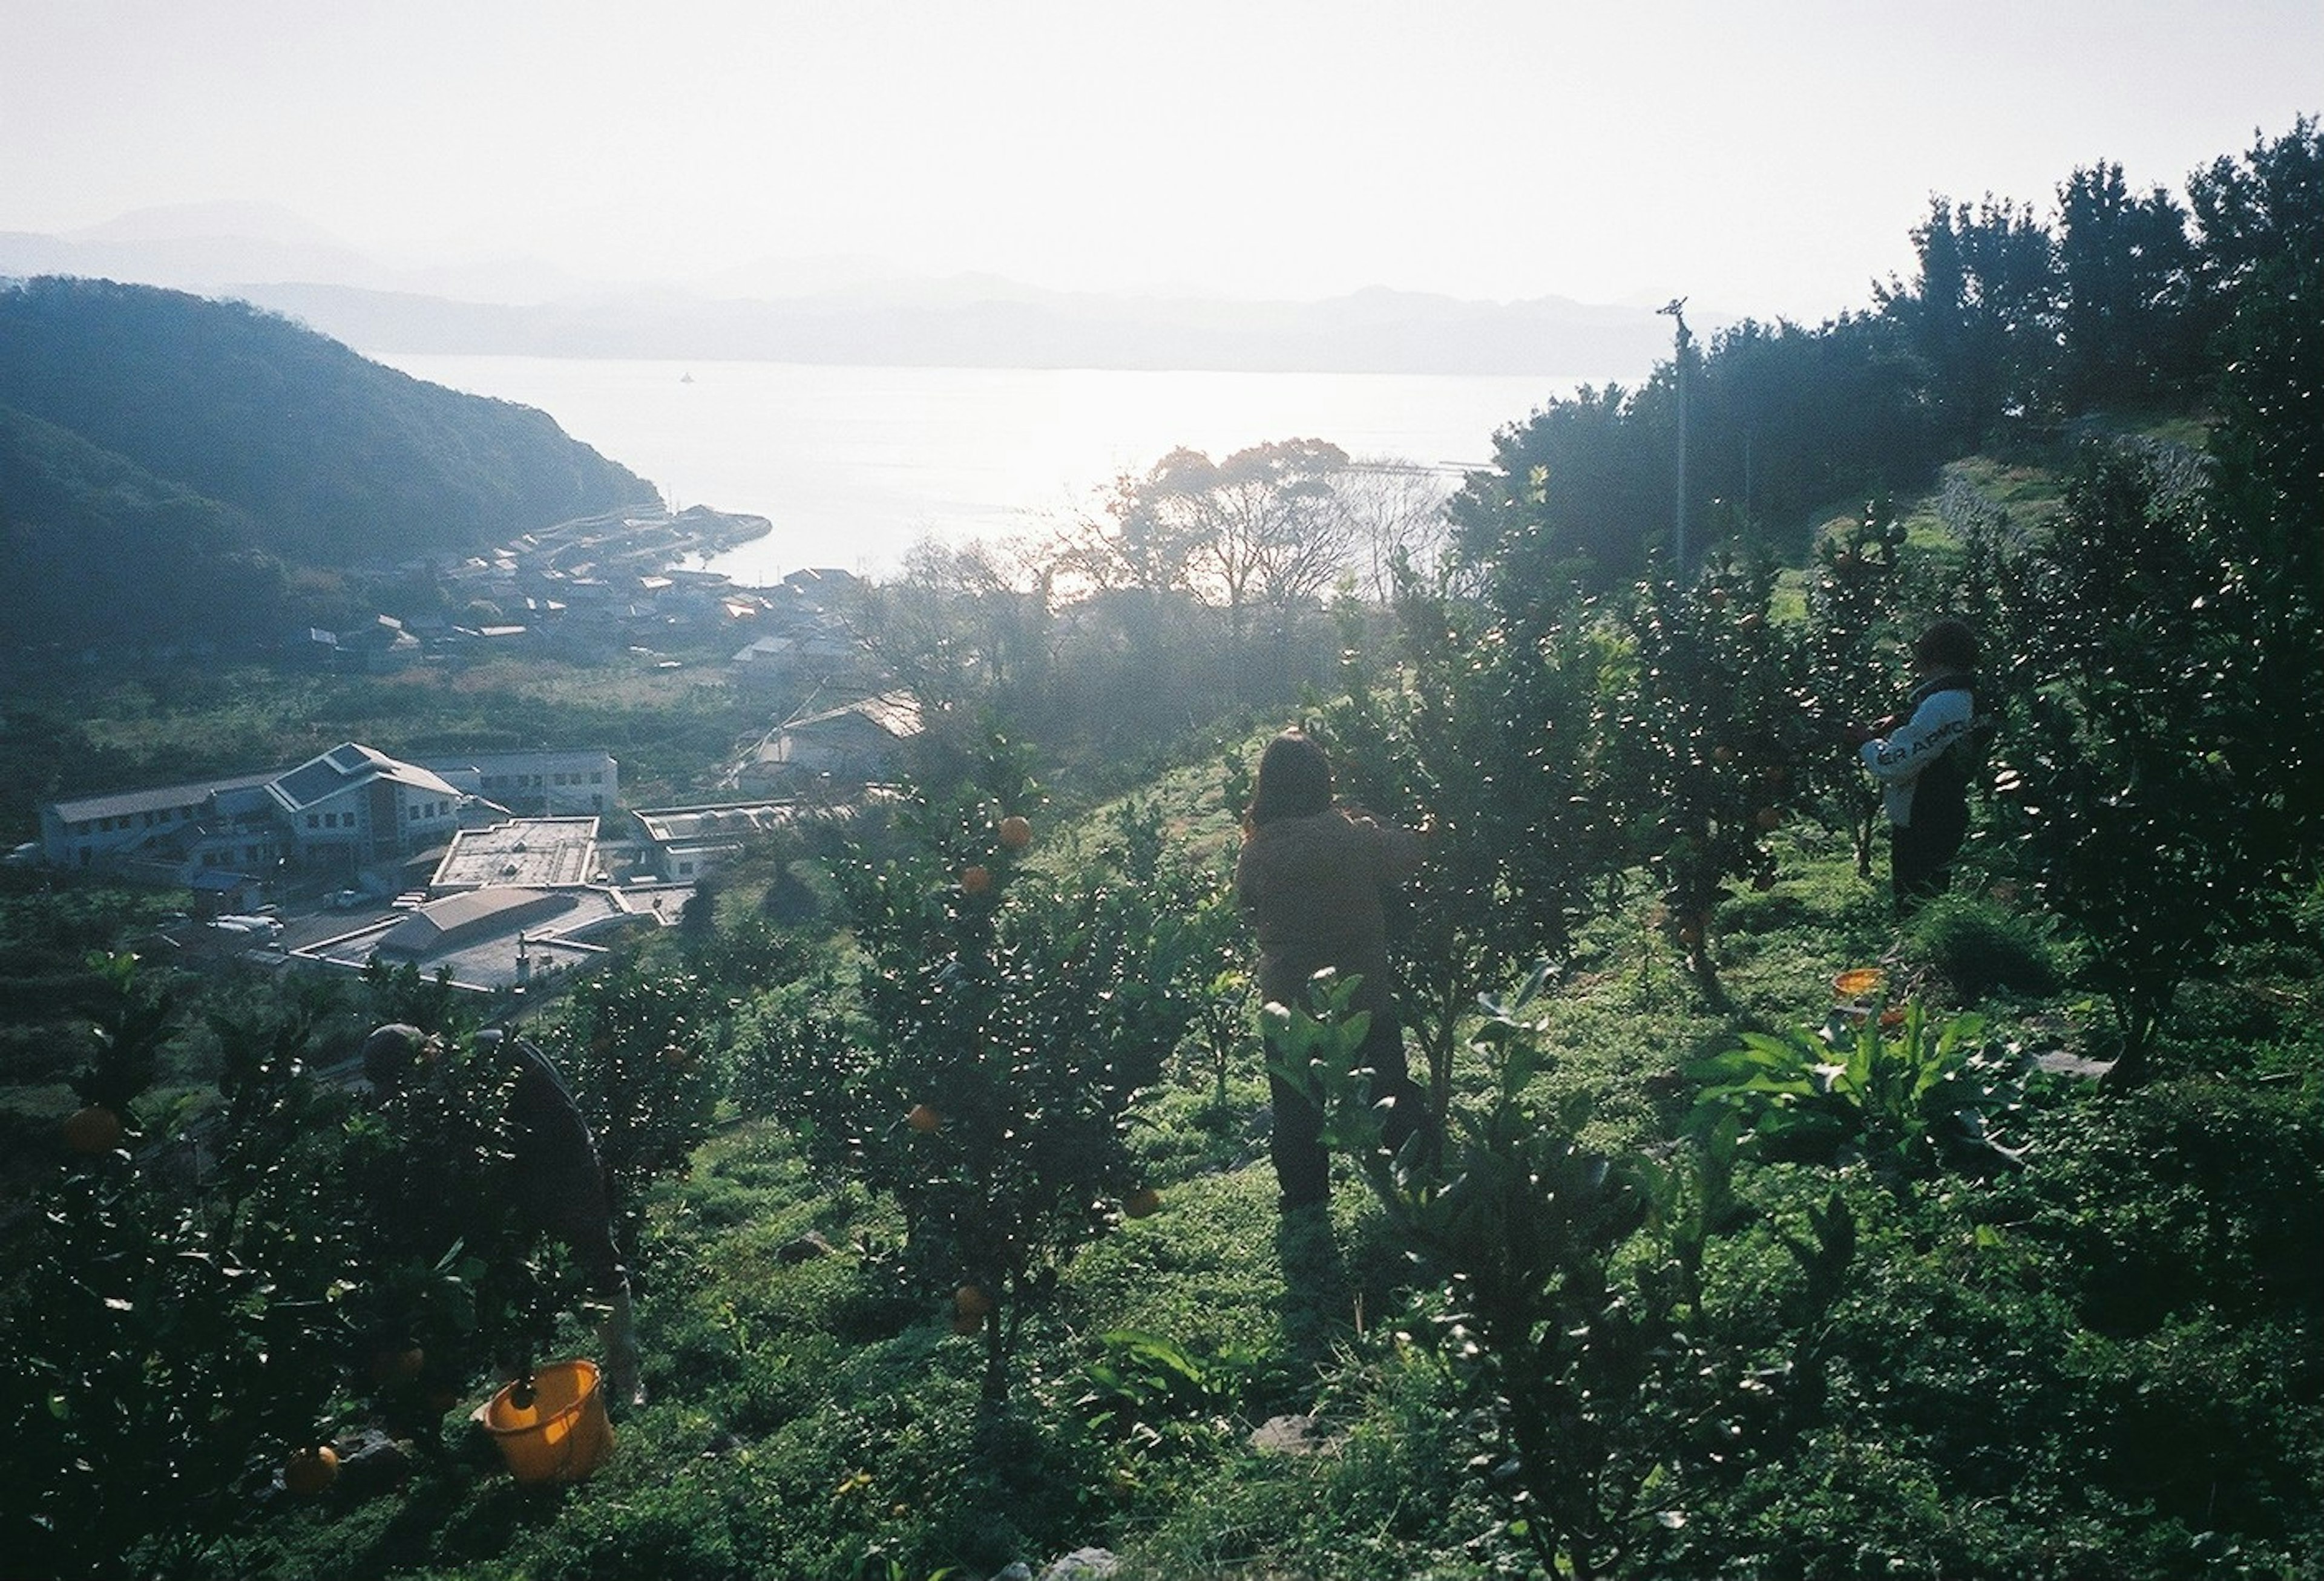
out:
{"label": "faint hazy mountain range across the water on the horizon", "polygon": [[[1371,288],[1320,302],[1062,293],[992,277],[832,284],[767,265],[709,288],[607,288],[537,260],[395,270],[281,209],[149,209],[72,235],[0,233],[0,277],[84,274],[230,295],[367,353],[753,358],[920,367],[1548,374],[1669,351],[1645,307],[1469,302]],[[734,291],[755,295],[727,295]],[[769,295],[772,293],[772,295]]]}

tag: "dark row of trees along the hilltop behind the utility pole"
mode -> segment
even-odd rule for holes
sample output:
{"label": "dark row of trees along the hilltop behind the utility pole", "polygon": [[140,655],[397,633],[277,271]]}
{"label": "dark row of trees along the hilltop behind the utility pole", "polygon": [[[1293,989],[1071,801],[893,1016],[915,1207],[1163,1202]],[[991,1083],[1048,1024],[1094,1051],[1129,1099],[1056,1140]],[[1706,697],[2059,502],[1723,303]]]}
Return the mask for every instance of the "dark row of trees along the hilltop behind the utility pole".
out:
{"label": "dark row of trees along the hilltop behind the utility pole", "polygon": [[[1511,602],[1636,577],[1673,530],[1680,381],[1697,544],[1799,530],[1817,509],[1917,486],[1950,456],[2047,439],[2106,409],[2308,388],[2305,425],[2284,412],[2268,428],[2282,463],[2264,465],[2280,474],[2298,474],[2298,435],[2324,432],[2294,342],[2254,332],[2284,302],[2315,319],[2315,119],[2192,172],[2185,195],[2133,191],[2106,160],[2059,184],[2047,221],[2013,200],[1934,195],[1913,251],[1913,279],[1875,286],[1871,312],[1820,328],[1743,321],[1638,388],[1583,388],[1504,428],[1494,465],[1452,502],[1457,553]],[[2259,367],[2257,344],[2275,363]]]}

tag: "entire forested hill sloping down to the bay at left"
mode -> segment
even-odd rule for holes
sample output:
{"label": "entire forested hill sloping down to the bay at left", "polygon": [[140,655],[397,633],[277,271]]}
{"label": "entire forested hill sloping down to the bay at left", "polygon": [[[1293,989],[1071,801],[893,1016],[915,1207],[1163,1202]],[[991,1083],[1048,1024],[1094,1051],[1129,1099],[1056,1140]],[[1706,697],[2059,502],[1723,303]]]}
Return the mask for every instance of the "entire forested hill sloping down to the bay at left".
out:
{"label": "entire forested hill sloping down to the bay at left", "polygon": [[653,488],[546,414],[460,395],[242,302],[0,288],[12,632],[221,642],[284,567],[502,542]]}

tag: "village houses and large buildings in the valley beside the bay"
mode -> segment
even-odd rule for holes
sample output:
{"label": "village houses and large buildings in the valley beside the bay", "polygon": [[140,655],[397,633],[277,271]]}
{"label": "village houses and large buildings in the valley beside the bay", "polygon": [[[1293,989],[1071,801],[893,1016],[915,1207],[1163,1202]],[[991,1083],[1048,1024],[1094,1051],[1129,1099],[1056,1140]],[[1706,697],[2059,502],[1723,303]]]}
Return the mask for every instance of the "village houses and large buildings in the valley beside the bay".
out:
{"label": "village houses and large buildings in the valley beside the bay", "polygon": [[40,839],[7,860],[188,890],[153,942],[188,963],[411,965],[483,995],[583,972],[623,930],[676,925],[751,835],[878,786],[920,732],[851,623],[851,572],[739,588],[683,565],[767,530],[702,507],[593,516],[428,567],[474,618],[383,611],[307,632],[316,663],[381,677],[504,651],[655,658],[725,635],[725,679],[769,702],[765,732],[720,767],[732,797],[625,807],[621,765],[588,744],[397,758],[342,742],[307,763],[46,802]]}

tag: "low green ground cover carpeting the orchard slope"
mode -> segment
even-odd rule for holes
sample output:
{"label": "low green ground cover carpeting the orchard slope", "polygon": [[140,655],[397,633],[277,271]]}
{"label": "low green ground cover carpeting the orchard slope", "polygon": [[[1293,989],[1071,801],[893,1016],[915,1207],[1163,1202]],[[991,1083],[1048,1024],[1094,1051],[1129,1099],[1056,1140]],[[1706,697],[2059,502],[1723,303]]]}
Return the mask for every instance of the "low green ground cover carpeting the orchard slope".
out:
{"label": "low green ground cover carpeting the orchard slope", "polygon": [[[1185,825],[1202,839],[1215,818]],[[1680,1065],[1820,1021],[1843,967],[1885,963],[1943,1009],[1959,1000],[1843,842],[1813,830],[1785,837],[1783,879],[1724,923],[1717,995],[1645,911],[1636,897],[1585,930],[1545,1018],[1541,1088],[1597,1097],[1594,1146],[1659,1144],[1690,1097]],[[2013,916],[1989,900],[1961,911]],[[2273,1067],[2298,1081],[2273,1095],[2203,1076],[2124,1107],[2087,1079],[2038,1076],[2022,1174],[1896,1195],[1759,1167],[1769,1235],[1713,1251],[1717,1321],[1755,1332],[1762,1362],[1813,1374],[1794,1388],[1817,1409],[1792,1407],[1813,1421],[1783,1455],[1692,1488],[1699,1514],[1636,1574],[1841,1576],[1873,1558],[1922,1574],[2068,1576],[2101,1558],[2126,1565],[2115,1574],[2205,1560],[2298,1574],[2296,1537],[2317,1530],[2301,1476],[2324,1437],[2312,1369],[2278,1365],[2312,1335],[2315,1293],[2261,1181],[2319,1167],[2324,1049],[2296,979],[2240,993],[2287,1011],[2264,1018]],[[2066,1051],[2101,1021],[2071,986],[1985,1007]],[[2257,1030],[2250,1016],[2238,1030]],[[1427,1342],[1441,1295],[1348,1174],[1327,1223],[1276,1218],[1262,1102],[1248,1058],[1225,1104],[1199,1060],[1174,1070],[1134,1130],[1164,1209],[1069,1265],[1002,1418],[978,1400],[981,1346],[902,1281],[892,1209],[832,1190],[783,1128],[737,1116],[690,1176],[655,1188],[653,1402],[621,1418],[621,1451],[590,1483],[521,1493],[458,1453],[395,1495],[286,1507],[230,1567],[302,1574],[353,1551],[367,1574],[479,1581],[916,1579],[1039,1569],[1099,1544],[1132,1576],[1499,1574],[1515,1548],[1490,1479],[1464,1465],[1473,1404]],[[2222,1202],[2222,1179],[2243,1197]],[[1783,1244],[1834,1190],[1878,1256],[1801,1337],[1780,1321],[1801,1300]],[[806,1232],[834,1251],[799,1256]],[[2205,1267],[2210,1295],[2178,1288]],[[2222,1309],[2231,1290],[2247,1311]],[[1283,1416],[1294,1435],[1253,1437]],[[2113,1465],[2085,1460],[2122,1432],[2138,1442]],[[2199,1509],[2194,1483],[2222,1472],[2208,1497],[2243,1507],[2240,1535],[2217,1504]]]}

